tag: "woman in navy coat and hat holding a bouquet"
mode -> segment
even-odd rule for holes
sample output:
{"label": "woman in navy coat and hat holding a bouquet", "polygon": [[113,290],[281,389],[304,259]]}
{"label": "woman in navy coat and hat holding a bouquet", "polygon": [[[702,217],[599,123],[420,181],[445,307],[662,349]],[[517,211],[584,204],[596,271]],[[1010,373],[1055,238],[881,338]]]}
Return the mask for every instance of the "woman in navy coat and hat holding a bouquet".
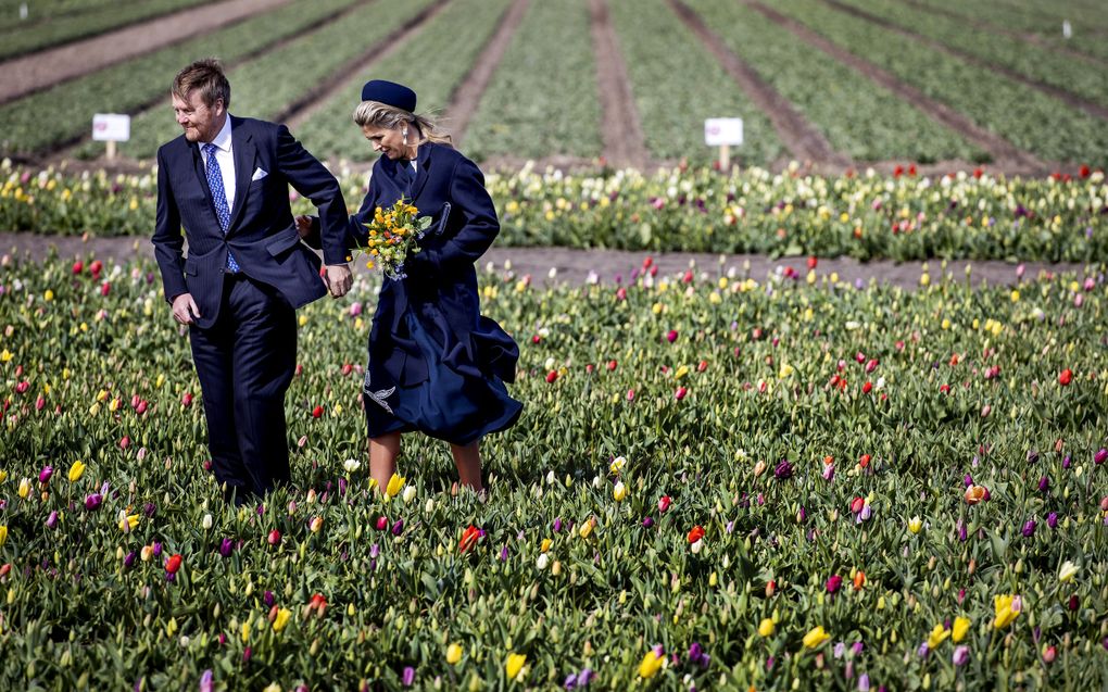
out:
{"label": "woman in navy coat and hat holding a bouquet", "polygon": [[[481,316],[473,268],[500,223],[481,171],[414,110],[414,92],[381,80],[365,85],[355,110],[382,156],[349,219],[352,242],[365,247],[365,223],[400,198],[432,218],[404,262],[407,277],[383,279],[373,314],[362,383],[370,474],[384,488],[401,433],[420,431],[450,443],[462,485],[480,492],[481,437],[514,424],[523,407],[504,386],[515,379],[519,347]],[[309,233],[306,219],[298,225]]]}

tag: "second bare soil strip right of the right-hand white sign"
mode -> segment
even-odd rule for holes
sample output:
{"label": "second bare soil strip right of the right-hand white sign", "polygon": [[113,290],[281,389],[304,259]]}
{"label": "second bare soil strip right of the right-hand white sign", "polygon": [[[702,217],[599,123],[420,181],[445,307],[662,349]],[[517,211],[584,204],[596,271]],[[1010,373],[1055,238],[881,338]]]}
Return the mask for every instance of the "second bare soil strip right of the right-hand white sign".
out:
{"label": "second bare soil strip right of the right-hand white sign", "polygon": [[[840,48],[791,17],[786,17],[777,10],[762,4],[758,0],[743,1],[769,19],[793,32],[810,45],[820,49],[839,62],[858,70],[869,79],[901,96],[940,123],[961,132],[967,140],[988,152],[997,166],[1003,167],[1005,171],[1013,173],[1038,173],[1047,168],[1043,162],[1038,161],[1029,153],[1020,151],[1003,137],[999,137],[983,127],[978,127],[961,113],[957,113],[948,106],[926,96],[914,86],[910,86],[909,84],[901,82],[892,73],[885,72],[873,63],[854,55],[843,48]],[[827,1],[831,2],[832,0]]]}

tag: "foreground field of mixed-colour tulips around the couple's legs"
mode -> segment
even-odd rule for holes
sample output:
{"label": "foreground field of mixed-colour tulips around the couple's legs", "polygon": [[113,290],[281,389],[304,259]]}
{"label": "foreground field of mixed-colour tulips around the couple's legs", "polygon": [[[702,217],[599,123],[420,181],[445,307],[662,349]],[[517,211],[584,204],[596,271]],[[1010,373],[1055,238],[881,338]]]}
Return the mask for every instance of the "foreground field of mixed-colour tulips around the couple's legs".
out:
{"label": "foreground field of mixed-colour tulips around the couple's legs", "polygon": [[525,403],[484,502],[420,436],[371,487],[362,276],[236,510],[155,267],[0,259],[0,688],[1108,683],[1102,268],[480,281]]}

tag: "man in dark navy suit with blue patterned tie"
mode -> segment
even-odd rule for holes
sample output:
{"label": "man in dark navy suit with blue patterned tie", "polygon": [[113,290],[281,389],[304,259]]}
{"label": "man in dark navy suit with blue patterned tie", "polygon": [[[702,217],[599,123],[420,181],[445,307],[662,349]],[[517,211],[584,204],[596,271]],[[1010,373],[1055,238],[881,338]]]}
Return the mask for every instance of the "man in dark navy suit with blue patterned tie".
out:
{"label": "man in dark navy suit with blue patterned tie", "polygon": [[[216,479],[242,503],[289,481],[296,308],[350,289],[346,203],[287,127],[228,115],[218,61],[182,70],[172,94],[184,133],[157,152],[154,254],[173,317],[189,326]],[[324,280],[300,244],[289,184],[319,209]]]}

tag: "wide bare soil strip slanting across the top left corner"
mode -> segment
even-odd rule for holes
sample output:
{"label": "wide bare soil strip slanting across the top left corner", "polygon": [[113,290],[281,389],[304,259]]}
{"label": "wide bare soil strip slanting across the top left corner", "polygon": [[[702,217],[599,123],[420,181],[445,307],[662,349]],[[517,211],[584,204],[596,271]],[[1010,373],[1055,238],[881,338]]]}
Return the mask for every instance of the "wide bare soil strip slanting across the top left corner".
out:
{"label": "wide bare soil strip slanting across the top left corner", "polygon": [[0,104],[266,12],[291,0],[225,0],[0,63]]}

